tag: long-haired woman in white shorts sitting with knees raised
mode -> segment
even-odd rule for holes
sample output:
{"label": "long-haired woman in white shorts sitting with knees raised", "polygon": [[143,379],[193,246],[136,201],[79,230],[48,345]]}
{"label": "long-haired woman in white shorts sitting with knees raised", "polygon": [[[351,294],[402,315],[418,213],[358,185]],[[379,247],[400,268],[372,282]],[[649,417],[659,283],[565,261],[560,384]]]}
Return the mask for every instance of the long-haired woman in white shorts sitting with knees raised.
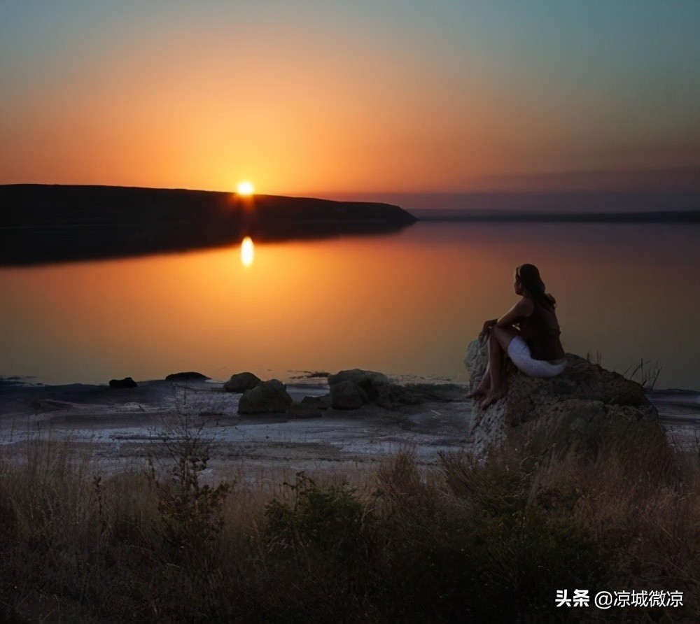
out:
{"label": "long-haired woman in white shorts sitting with knees raised", "polygon": [[469,397],[486,409],[504,394],[505,355],[527,375],[554,377],[566,367],[559,341],[552,295],[545,292],[540,271],[534,264],[515,269],[515,293],[521,299],[501,318],[487,320],[480,336],[489,336],[489,364],[479,386]]}

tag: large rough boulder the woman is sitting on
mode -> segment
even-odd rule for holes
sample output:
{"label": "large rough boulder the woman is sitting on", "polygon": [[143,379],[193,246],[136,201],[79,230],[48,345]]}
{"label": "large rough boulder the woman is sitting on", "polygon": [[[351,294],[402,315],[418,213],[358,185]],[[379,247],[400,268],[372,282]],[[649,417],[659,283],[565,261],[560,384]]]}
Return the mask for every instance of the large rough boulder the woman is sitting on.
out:
{"label": "large rough boulder the woman is sitting on", "polygon": [[[502,444],[516,429],[536,432],[540,441],[562,451],[594,453],[605,441],[642,430],[656,438],[664,436],[658,412],[641,385],[578,355],[567,353],[566,358],[563,373],[547,379],[521,373],[507,360],[504,397],[484,411],[474,410],[471,429],[476,455]],[[464,357],[472,390],[487,362],[486,340],[472,341]]]}

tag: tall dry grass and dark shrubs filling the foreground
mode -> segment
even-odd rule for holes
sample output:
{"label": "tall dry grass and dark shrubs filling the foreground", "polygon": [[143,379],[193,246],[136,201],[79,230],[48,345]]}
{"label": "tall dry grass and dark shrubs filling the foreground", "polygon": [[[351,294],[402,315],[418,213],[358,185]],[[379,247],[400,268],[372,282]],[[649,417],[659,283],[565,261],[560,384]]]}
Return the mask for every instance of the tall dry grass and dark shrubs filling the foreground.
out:
{"label": "tall dry grass and dark shrubs filling the foreground", "polygon": [[[352,483],[271,488],[203,484],[190,434],[170,438],[165,471],[102,478],[38,441],[0,461],[0,619],[698,620],[697,453],[531,434],[484,462],[399,453]],[[685,607],[555,607],[577,588],[680,590]]]}

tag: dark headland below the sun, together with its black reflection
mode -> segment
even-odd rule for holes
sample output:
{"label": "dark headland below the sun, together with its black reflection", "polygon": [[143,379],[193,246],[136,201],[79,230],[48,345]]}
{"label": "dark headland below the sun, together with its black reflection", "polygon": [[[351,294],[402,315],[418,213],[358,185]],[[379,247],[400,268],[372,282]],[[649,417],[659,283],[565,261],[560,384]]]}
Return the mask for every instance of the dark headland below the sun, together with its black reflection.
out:
{"label": "dark headland below the sun, together with its black reflection", "polygon": [[122,257],[255,241],[385,234],[414,216],[391,204],[183,189],[0,185],[0,264]]}

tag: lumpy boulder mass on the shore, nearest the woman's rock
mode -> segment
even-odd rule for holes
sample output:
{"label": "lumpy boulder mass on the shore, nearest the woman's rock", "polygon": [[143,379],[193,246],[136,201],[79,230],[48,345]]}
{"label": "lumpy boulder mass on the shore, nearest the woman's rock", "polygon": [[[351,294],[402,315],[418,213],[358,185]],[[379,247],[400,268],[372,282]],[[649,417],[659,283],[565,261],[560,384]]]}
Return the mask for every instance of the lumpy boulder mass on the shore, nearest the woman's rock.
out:
{"label": "lumpy boulder mass on the shore, nearest the woman's rock", "polygon": [[418,392],[391,383],[383,373],[352,369],[328,377],[331,406],[335,409],[358,409],[374,403],[384,409],[421,403]]}

